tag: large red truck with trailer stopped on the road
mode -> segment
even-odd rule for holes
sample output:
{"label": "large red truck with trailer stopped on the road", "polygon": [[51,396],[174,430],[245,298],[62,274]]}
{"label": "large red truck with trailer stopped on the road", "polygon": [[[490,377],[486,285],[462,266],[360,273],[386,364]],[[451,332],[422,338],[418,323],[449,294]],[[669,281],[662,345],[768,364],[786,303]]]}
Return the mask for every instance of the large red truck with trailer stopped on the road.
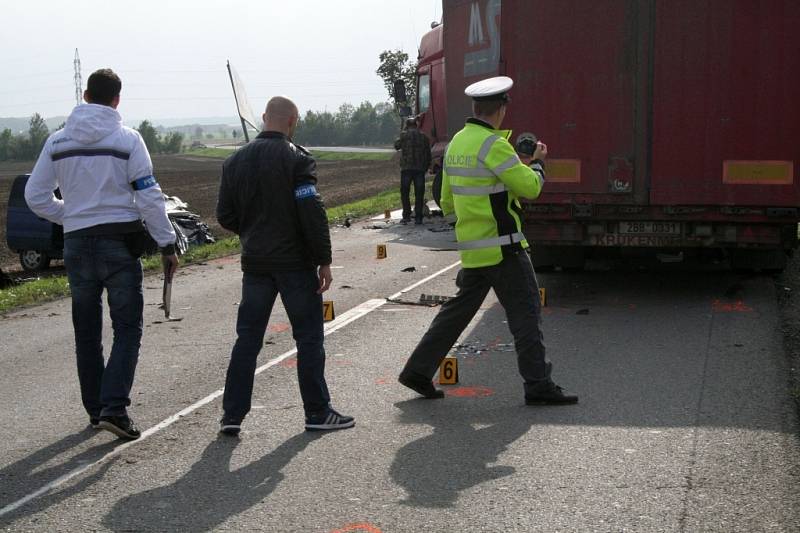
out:
{"label": "large red truck with trailer stopped on the road", "polygon": [[504,127],[547,143],[524,204],[538,266],[708,251],[782,269],[800,220],[797,0],[444,0],[417,112],[441,157],[464,88],[514,79]]}

